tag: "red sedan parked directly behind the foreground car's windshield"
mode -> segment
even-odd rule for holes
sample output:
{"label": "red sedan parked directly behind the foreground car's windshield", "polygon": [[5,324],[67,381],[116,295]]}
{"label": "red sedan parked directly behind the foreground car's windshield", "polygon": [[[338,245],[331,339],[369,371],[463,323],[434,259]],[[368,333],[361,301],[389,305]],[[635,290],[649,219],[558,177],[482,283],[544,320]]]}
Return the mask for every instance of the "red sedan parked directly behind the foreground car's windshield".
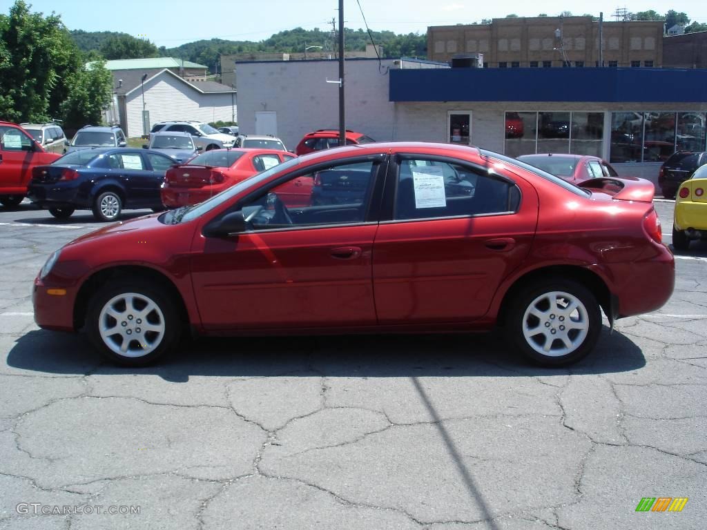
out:
{"label": "red sedan parked directly behind the foreground car's windshield", "polygon": [[270,169],[296,155],[274,149],[212,149],[165,174],[162,203],[168,208],[197,204],[236,182]]}

